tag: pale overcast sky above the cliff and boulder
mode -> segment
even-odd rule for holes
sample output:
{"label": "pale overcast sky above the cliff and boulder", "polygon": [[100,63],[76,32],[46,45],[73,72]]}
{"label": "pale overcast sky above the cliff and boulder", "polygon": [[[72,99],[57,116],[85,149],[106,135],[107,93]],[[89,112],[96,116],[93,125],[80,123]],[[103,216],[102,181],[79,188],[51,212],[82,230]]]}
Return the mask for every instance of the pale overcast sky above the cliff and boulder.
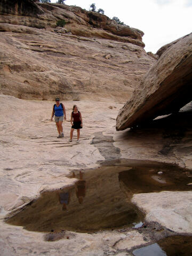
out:
{"label": "pale overcast sky above the cliff and boulder", "polygon": [[156,53],[161,46],[192,32],[192,0],[66,0],[65,3],[86,10],[95,3],[109,18],[118,17],[126,25],[142,30],[147,52]]}

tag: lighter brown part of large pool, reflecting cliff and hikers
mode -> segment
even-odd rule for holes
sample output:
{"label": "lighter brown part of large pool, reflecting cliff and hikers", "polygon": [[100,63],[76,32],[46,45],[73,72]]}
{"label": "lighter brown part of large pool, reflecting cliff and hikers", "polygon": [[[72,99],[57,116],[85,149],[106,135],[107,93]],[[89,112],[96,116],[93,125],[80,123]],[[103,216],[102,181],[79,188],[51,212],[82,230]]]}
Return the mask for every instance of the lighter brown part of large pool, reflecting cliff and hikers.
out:
{"label": "lighter brown part of large pool, reflecting cliff and hikers", "polygon": [[[121,170],[125,167],[113,170],[111,166],[105,166],[95,172],[76,174],[80,179],[74,186],[42,193],[7,222],[25,226],[27,230],[48,232],[134,227],[135,223],[142,221],[143,214],[120,188],[118,172]],[[67,211],[62,211],[61,204]]]}

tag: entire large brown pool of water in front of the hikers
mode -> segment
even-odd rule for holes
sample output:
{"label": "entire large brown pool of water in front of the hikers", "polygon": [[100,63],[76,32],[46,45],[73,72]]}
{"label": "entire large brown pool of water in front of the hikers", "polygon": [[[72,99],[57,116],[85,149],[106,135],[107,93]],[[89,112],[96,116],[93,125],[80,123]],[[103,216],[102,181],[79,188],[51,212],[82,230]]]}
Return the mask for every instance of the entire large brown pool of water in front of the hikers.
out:
{"label": "entire large brown pool of water in front of the hikers", "polygon": [[191,190],[189,171],[143,161],[102,163],[92,170],[74,171],[73,186],[45,191],[7,223],[30,231],[93,232],[138,227],[145,215],[131,203],[133,194]]}

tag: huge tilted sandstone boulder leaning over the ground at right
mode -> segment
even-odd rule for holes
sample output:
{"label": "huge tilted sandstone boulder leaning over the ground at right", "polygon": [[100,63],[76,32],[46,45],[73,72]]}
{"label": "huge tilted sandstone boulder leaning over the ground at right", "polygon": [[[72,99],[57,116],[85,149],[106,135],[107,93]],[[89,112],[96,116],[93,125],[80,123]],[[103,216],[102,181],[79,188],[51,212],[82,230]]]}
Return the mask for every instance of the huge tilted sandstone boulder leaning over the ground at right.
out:
{"label": "huge tilted sandstone boulder leaning over the ground at right", "polygon": [[117,116],[116,130],[171,114],[192,98],[192,33],[170,44]]}

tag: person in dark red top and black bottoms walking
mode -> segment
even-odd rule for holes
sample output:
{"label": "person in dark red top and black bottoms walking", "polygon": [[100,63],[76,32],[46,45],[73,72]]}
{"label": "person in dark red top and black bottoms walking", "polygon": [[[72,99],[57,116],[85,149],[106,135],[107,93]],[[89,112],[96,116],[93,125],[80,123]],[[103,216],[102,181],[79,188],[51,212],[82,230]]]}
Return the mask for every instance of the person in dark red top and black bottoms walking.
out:
{"label": "person in dark red top and black bottoms walking", "polygon": [[71,112],[71,131],[70,131],[70,140],[72,141],[74,129],[77,130],[77,143],[79,143],[80,129],[83,127],[82,115],[78,111],[77,105],[73,106],[73,112]]}

